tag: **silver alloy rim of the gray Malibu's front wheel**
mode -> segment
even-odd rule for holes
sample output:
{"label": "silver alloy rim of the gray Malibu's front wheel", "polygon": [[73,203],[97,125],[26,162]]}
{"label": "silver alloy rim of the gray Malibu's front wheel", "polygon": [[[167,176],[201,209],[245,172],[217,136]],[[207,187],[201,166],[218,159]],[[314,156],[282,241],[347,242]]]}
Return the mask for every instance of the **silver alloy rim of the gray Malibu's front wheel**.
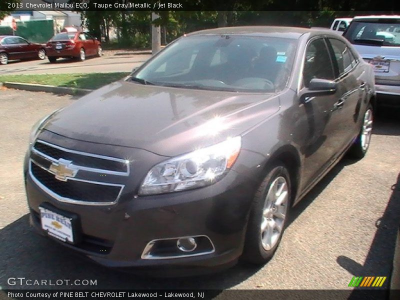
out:
{"label": "silver alloy rim of the gray Malibu's front wheel", "polygon": [[261,217],[261,244],[265,250],[275,246],[283,231],[288,205],[288,186],[279,176],[269,186]]}

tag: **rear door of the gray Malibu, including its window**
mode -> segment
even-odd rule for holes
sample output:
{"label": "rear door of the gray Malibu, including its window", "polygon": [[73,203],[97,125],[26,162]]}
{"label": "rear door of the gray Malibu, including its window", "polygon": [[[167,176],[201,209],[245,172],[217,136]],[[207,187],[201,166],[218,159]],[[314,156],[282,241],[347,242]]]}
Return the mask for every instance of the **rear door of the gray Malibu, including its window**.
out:
{"label": "rear door of the gray Malibu, including its window", "polygon": [[[329,37],[327,43],[332,55],[337,82],[337,117],[339,120],[338,140],[340,149],[344,149],[357,135],[361,117],[361,102],[365,98],[363,69],[345,42],[338,38]],[[339,153],[338,153],[339,154]]]}

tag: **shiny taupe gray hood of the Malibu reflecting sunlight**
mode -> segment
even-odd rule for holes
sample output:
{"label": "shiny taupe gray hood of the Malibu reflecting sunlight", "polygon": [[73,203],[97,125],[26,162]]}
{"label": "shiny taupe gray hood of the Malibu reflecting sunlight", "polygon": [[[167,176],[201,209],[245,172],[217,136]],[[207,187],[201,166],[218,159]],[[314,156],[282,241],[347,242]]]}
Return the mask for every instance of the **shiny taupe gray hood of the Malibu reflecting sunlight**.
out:
{"label": "shiny taupe gray hood of the Malibu reflecting sunlight", "polygon": [[276,94],[117,81],[55,113],[44,129],[175,156],[238,135],[279,109]]}

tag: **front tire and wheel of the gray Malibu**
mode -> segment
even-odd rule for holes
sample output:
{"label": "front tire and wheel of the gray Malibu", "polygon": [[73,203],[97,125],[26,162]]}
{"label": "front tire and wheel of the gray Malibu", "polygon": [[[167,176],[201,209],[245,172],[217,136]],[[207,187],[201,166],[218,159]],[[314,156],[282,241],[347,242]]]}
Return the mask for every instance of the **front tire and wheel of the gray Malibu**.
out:
{"label": "front tire and wheel of the gray Malibu", "polygon": [[263,264],[273,256],[291,204],[291,183],[286,167],[281,162],[275,163],[266,174],[253,199],[241,256],[254,264]]}

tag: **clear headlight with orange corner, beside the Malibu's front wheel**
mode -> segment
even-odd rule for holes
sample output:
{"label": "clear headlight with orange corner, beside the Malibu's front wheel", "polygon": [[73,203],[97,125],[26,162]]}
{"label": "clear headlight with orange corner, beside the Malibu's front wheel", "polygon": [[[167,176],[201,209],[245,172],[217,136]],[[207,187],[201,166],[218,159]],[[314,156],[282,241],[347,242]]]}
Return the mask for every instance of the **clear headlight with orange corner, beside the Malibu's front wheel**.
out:
{"label": "clear headlight with orange corner, beside the Malibu's front wheel", "polygon": [[215,182],[239,155],[240,136],[163,161],[147,173],[139,195],[192,189]]}

